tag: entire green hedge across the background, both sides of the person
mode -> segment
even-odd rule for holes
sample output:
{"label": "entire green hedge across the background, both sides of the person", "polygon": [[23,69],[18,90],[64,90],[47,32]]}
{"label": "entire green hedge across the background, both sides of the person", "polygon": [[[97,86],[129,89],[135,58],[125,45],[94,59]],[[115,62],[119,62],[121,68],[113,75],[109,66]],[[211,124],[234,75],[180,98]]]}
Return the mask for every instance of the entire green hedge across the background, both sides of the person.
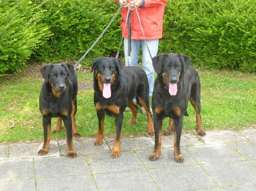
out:
{"label": "entire green hedge across the background, both sides of the person", "polygon": [[[16,73],[31,57],[78,60],[117,10],[114,0],[0,0],[0,76]],[[255,22],[255,0],[169,0],[159,54],[180,52],[193,65],[256,72]],[[120,40],[119,14],[81,64],[115,56]]]}

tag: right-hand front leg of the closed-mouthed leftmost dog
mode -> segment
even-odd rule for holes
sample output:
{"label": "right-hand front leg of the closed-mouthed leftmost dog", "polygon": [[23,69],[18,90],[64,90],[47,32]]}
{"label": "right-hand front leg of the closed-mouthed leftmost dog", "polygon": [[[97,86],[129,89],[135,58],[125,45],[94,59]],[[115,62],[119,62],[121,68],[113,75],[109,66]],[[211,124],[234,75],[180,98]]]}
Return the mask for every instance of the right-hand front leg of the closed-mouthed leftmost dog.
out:
{"label": "right-hand front leg of the closed-mouthed leftmost dog", "polygon": [[65,116],[62,118],[63,122],[66,126],[66,148],[68,151],[69,158],[76,158],[76,152],[73,145],[73,138],[72,138],[72,121],[71,116]]}

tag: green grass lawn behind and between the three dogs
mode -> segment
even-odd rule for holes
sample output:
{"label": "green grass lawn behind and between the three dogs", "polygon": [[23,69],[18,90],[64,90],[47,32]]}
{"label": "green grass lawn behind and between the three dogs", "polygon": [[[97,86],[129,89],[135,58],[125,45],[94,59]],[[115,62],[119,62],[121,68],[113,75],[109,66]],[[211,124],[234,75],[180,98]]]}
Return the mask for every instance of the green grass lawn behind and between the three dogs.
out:
{"label": "green grass lawn behind and between the three dogs", "polygon": [[[207,130],[230,129],[239,131],[256,124],[256,75],[227,70],[203,70],[197,68],[201,79],[202,121]],[[35,75],[39,77],[35,78]],[[92,81],[92,73],[78,72],[78,80]],[[0,142],[42,140],[42,116],[39,111],[39,93],[43,79],[39,72],[19,75],[0,81]],[[93,104],[93,90],[78,91],[76,124],[82,136],[96,136],[98,121]],[[194,131],[195,112],[188,105],[184,131]],[[127,126],[131,113],[125,112],[123,135],[147,135],[147,120],[138,113],[138,123]],[[169,120],[164,120],[163,129]],[[56,120],[52,119],[52,131]],[[105,135],[115,134],[114,118],[106,116]],[[65,131],[51,135],[65,137]]]}

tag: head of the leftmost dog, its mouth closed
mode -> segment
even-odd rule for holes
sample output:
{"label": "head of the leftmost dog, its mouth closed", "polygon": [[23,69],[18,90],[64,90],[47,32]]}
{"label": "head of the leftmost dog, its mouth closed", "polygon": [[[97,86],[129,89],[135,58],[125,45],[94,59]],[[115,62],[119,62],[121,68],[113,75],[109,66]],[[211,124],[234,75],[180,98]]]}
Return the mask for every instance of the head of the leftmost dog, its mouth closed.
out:
{"label": "head of the leftmost dog, its mouth closed", "polygon": [[66,91],[68,78],[73,79],[75,74],[74,66],[68,63],[45,64],[40,68],[45,80],[52,87],[52,93]]}

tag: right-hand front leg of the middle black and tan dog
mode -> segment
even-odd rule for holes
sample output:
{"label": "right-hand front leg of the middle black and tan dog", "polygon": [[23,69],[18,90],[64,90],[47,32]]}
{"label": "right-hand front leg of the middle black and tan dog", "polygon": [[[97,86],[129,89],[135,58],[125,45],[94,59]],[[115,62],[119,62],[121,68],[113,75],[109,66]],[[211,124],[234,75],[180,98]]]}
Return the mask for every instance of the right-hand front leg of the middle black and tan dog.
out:
{"label": "right-hand front leg of the middle black and tan dog", "polygon": [[123,125],[123,113],[120,113],[119,116],[115,117],[115,139],[114,139],[113,150],[112,150],[112,153],[111,153],[112,158],[119,158],[120,157],[122,125]]}

